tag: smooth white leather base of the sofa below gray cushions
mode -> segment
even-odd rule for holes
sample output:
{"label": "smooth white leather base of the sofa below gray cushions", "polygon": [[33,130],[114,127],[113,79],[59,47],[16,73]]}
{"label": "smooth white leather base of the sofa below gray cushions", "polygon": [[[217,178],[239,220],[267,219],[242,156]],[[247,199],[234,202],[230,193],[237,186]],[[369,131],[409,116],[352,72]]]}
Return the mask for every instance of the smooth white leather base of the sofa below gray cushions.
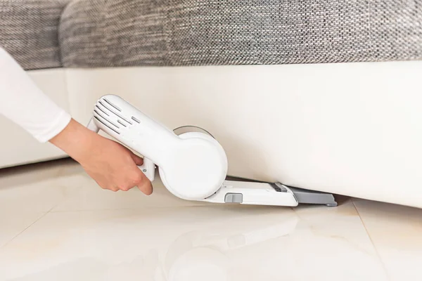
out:
{"label": "smooth white leather base of the sofa below gray cushions", "polygon": [[[96,99],[114,93],[171,128],[209,130],[231,176],[414,207],[422,207],[421,73],[422,61],[31,72],[84,124]],[[15,135],[1,140],[0,166],[63,156],[6,130]]]}

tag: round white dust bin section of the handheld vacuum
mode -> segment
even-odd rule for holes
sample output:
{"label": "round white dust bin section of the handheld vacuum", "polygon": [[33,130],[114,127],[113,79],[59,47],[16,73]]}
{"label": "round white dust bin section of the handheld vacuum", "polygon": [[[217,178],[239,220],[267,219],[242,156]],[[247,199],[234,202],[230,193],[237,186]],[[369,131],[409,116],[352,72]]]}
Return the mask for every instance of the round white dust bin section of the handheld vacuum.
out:
{"label": "round white dust bin section of the handheld vacuum", "polygon": [[165,169],[159,168],[162,183],[177,197],[203,200],[224,182],[228,164],[226,152],[215,138],[198,126],[174,129],[180,143],[169,150]]}

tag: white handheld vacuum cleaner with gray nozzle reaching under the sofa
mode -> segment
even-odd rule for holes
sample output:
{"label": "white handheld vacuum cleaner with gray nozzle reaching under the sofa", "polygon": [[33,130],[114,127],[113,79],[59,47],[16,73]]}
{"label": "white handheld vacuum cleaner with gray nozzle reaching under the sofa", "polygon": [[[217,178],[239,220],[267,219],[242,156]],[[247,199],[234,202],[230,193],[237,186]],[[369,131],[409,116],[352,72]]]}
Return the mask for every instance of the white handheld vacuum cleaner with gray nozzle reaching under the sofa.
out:
{"label": "white handheld vacuum cleaner with gray nozzle reaching under the sofa", "polygon": [[155,165],[173,195],[184,200],[295,207],[299,203],[336,206],[333,195],[289,188],[281,183],[226,181],[226,153],[204,129],[174,131],[146,116],[119,96],[101,97],[88,128],[100,129],[143,155],[139,169],[154,180]]}

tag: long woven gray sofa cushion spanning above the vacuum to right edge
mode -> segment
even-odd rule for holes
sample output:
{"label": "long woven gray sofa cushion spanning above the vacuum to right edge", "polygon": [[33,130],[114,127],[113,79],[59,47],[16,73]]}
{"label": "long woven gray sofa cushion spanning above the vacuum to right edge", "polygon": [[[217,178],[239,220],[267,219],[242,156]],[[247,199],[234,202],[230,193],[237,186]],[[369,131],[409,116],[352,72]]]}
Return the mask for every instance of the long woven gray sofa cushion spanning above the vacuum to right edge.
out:
{"label": "long woven gray sofa cushion spanning above the vacuum to right edge", "polygon": [[66,67],[339,63],[422,58],[422,0],[80,0]]}

